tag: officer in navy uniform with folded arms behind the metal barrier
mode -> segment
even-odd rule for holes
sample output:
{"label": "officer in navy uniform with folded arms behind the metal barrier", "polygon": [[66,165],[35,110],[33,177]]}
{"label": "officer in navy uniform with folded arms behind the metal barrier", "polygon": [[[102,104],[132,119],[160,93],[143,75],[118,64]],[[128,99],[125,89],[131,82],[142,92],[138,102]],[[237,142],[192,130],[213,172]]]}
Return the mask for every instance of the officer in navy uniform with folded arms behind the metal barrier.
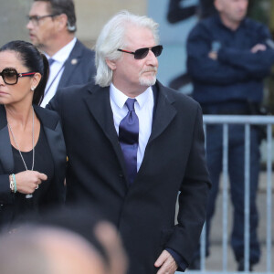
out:
{"label": "officer in navy uniform with folded arms behind the metal barrier", "polygon": [[[247,18],[248,0],[215,0],[218,14],[200,21],[187,41],[187,68],[193,79],[193,97],[204,114],[259,115],[263,99],[263,79],[274,61],[269,29]],[[228,172],[234,205],[231,245],[244,269],[245,145],[244,126],[229,125]],[[250,269],[260,258],[256,195],[259,173],[261,132],[250,133]],[[207,207],[207,253],[210,221],[215,211],[222,171],[221,125],[206,127],[206,156],[213,188]],[[200,268],[199,251],[192,266]]]}

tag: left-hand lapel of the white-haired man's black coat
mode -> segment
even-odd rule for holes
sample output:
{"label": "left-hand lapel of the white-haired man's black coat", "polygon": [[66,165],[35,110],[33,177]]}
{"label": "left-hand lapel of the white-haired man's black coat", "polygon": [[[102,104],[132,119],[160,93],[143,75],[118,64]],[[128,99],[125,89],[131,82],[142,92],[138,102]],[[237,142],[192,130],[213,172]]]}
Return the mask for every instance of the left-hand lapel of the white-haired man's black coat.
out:
{"label": "left-hand lapel of the white-haired man's black coat", "polygon": [[100,88],[99,86],[96,86],[92,91],[89,90],[89,94],[84,100],[87,103],[92,116],[99,123],[101,130],[110,140],[121,164],[123,173],[127,174],[121,146],[118,141],[118,135],[114,127],[113,113],[111,111],[110,87]]}

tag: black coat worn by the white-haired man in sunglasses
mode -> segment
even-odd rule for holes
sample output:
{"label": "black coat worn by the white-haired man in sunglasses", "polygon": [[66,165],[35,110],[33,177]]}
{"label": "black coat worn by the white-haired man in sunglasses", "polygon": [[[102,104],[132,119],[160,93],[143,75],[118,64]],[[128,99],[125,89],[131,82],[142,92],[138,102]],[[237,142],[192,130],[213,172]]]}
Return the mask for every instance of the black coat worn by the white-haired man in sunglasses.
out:
{"label": "black coat worn by the white-haired man in sunglasses", "polygon": [[[130,274],[156,273],[164,248],[190,262],[205,221],[209,178],[202,111],[194,100],[155,85],[153,128],[129,186],[111,111],[110,89],[88,84],[60,90],[58,111],[68,150],[68,202],[89,200],[118,227]],[[174,225],[179,196],[178,224]]]}

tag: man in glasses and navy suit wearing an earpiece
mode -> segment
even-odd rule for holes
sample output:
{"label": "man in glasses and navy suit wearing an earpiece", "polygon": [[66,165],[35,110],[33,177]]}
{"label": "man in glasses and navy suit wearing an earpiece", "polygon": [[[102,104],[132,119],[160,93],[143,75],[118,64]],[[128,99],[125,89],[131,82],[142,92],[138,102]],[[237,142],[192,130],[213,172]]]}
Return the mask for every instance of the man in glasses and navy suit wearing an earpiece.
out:
{"label": "man in glasses and navy suit wearing an earpiece", "polygon": [[76,37],[73,0],[34,0],[26,28],[48,58],[50,74],[41,106],[60,88],[85,84],[95,76],[94,52]]}

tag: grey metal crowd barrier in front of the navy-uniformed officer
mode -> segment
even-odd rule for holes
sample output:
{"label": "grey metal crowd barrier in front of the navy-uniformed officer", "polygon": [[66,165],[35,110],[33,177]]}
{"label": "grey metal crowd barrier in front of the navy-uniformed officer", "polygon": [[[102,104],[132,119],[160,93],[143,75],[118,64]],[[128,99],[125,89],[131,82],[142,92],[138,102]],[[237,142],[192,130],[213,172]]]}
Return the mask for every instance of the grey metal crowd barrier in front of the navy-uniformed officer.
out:
{"label": "grey metal crowd barrier in front of the navy-uniformed officer", "polygon": [[[249,170],[250,165],[250,126],[251,125],[262,125],[266,126],[267,129],[267,200],[266,200],[266,215],[267,215],[267,231],[266,231],[266,271],[265,272],[252,272],[257,274],[274,273],[272,268],[272,259],[274,260],[272,252],[272,241],[273,236],[271,235],[272,229],[272,125],[274,124],[274,117],[271,116],[245,116],[245,115],[204,115],[204,129],[206,138],[206,126],[208,124],[222,124],[223,125],[223,236],[222,236],[222,269],[219,271],[207,270],[205,262],[205,227],[201,235],[201,269],[200,270],[187,270],[192,274],[201,273],[249,273]],[[228,208],[228,125],[229,124],[243,124],[245,127],[245,272],[231,272],[227,268],[227,248],[228,248],[228,237],[227,237],[227,208]],[[212,254],[211,256],[214,256]],[[179,273],[179,272],[176,272]]]}

